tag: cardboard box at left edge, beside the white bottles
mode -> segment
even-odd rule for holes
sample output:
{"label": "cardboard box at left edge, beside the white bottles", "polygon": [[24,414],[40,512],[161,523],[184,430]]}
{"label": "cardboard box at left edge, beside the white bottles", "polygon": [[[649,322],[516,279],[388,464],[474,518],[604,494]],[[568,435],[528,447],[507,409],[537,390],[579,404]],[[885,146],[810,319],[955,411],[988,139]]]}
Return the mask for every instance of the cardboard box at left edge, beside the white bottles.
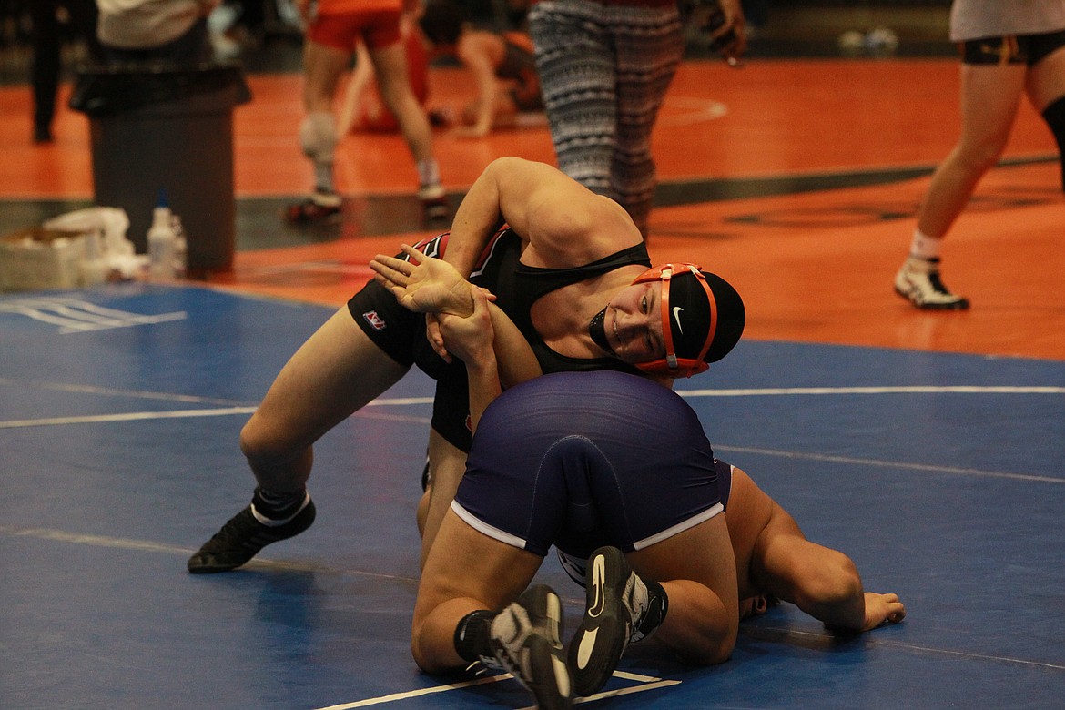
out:
{"label": "cardboard box at left edge, beside the white bottles", "polygon": [[77,288],[82,232],[31,227],[0,237],[0,290]]}

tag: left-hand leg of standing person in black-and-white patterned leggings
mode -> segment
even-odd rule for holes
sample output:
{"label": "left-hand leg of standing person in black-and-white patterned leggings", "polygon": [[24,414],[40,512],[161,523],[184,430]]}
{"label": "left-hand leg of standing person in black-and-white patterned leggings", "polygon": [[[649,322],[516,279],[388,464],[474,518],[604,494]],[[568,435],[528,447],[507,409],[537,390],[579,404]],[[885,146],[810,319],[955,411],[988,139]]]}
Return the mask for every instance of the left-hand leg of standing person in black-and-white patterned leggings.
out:
{"label": "left-hand leg of standing person in black-and-white patterned leggings", "polygon": [[529,35],[558,168],[593,193],[618,199],[610,164],[618,145],[617,68],[600,5],[541,0]]}

